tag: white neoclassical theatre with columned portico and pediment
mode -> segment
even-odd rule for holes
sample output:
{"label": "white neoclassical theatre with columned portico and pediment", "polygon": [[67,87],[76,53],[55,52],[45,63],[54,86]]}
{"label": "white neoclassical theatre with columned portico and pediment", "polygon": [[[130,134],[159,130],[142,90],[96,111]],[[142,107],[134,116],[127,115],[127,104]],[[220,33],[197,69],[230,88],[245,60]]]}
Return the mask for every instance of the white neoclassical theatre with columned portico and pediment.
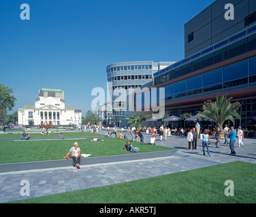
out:
{"label": "white neoclassical theatre with columned portico and pediment", "polygon": [[65,106],[63,90],[41,89],[35,104],[18,109],[18,125],[35,126],[79,126],[82,125],[82,111],[74,106]]}

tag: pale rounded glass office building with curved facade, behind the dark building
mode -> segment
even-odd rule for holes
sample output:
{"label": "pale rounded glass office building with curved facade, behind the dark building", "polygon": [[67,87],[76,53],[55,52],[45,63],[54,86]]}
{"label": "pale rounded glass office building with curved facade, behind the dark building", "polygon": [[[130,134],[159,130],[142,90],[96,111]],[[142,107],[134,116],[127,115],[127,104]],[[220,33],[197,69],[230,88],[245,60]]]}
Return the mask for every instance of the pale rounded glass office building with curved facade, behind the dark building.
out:
{"label": "pale rounded glass office building with curved facade, behind the dark building", "polygon": [[[106,67],[108,89],[110,92],[110,102],[112,104],[112,113],[104,113],[103,124],[114,124],[117,127],[127,127],[127,99],[114,102],[118,96],[115,96],[115,90],[125,90],[127,92],[135,90],[147,83],[153,85],[153,74],[157,71],[170,66],[175,62],[118,62]],[[110,117],[111,116],[111,117]]]}

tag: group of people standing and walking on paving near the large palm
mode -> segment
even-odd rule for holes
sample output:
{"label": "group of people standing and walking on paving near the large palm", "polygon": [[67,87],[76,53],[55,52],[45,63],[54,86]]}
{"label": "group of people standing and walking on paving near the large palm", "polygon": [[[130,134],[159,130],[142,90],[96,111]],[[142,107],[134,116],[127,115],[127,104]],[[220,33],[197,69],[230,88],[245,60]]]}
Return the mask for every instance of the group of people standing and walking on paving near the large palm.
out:
{"label": "group of people standing and walking on paving near the large palm", "polygon": [[[236,137],[238,138],[238,146],[244,146],[244,143],[242,142],[242,139],[244,138],[244,132],[242,130],[242,127],[238,127],[238,130],[236,131],[234,127],[227,127],[225,125],[225,128],[223,129],[224,132],[224,138],[225,142],[224,144],[229,144],[230,148],[230,155],[234,156],[236,155],[235,151],[235,142],[236,142]],[[215,147],[219,148],[219,142],[220,142],[220,136],[221,136],[221,129],[220,127],[217,127],[217,130],[214,130],[214,133],[212,134],[215,142]],[[198,140],[198,132],[195,130],[195,128],[190,129],[188,134],[187,134],[187,141],[189,142],[189,150],[191,151],[192,149],[197,149],[197,140]],[[229,141],[228,141],[229,138]],[[203,147],[203,155],[205,155],[205,148],[207,150],[208,156],[210,157],[210,150],[209,150],[209,144],[210,144],[210,135],[209,135],[209,130],[204,130],[203,134],[203,141],[202,141],[202,147]],[[192,147],[192,149],[191,149]]]}

